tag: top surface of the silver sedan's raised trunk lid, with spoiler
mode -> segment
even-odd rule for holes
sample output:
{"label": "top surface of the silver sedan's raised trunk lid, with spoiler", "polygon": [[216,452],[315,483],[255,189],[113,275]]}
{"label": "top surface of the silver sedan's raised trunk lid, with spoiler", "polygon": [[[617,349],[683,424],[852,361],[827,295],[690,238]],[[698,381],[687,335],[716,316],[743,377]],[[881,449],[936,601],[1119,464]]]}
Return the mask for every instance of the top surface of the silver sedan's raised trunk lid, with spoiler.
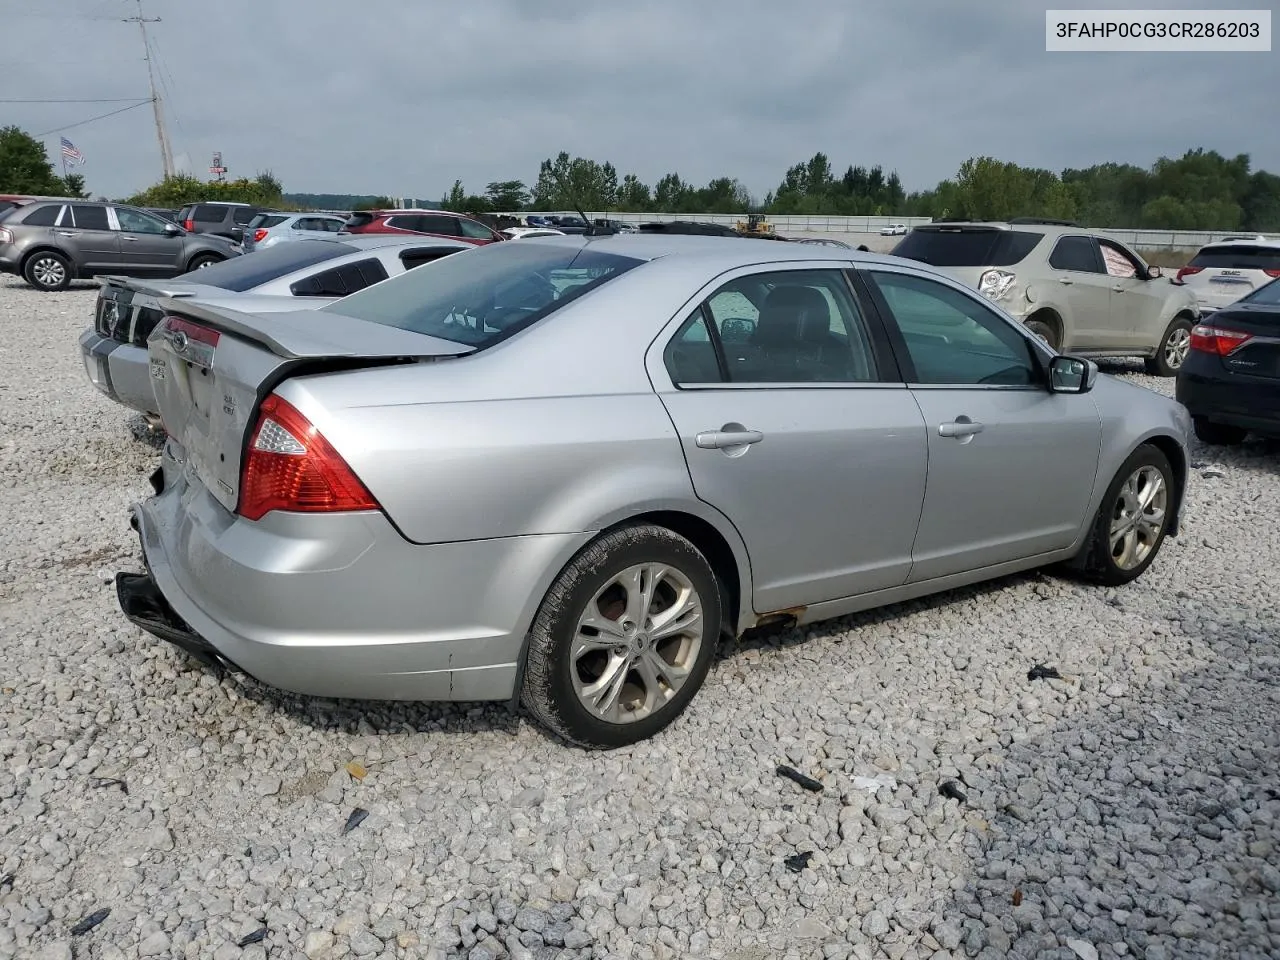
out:
{"label": "top surface of the silver sedan's raised trunk lid, with spoiler", "polygon": [[165,314],[177,314],[220,333],[251,340],[285,360],[330,357],[421,360],[461,357],[475,352],[475,347],[466,343],[454,343],[325,310],[246,314],[229,307],[214,307],[198,300],[173,297],[161,297],[159,305]]}

